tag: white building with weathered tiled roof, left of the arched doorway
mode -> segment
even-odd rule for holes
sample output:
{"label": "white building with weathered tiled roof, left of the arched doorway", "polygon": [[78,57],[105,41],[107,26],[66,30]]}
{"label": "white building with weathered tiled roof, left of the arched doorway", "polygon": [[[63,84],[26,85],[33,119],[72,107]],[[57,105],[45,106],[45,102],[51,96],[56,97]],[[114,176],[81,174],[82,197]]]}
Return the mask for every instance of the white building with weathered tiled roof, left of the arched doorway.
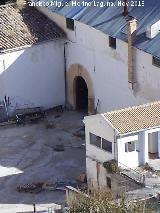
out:
{"label": "white building with weathered tiled roof, left of the arched doorway", "polygon": [[0,7],[0,103],[10,110],[65,104],[64,38],[36,8]]}

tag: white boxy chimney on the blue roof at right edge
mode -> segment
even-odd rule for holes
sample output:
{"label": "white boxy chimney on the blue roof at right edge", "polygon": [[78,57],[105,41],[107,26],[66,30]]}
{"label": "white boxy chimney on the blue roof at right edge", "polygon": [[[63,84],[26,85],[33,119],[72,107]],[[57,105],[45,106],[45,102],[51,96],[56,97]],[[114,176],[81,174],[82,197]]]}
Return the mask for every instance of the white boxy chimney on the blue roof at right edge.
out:
{"label": "white boxy chimney on the blue roof at right edge", "polygon": [[160,20],[146,27],[146,37],[154,38],[160,32]]}

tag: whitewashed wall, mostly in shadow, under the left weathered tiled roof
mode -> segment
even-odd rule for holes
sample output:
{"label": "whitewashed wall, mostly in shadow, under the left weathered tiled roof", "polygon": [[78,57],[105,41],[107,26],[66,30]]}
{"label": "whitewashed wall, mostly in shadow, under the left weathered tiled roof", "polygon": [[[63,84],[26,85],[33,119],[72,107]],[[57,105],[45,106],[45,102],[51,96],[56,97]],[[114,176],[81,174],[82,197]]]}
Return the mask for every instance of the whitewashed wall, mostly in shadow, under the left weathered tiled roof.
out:
{"label": "whitewashed wall, mostly in shadow, under the left weathered tiled roof", "polygon": [[51,41],[0,55],[0,101],[50,108],[65,102],[64,45]]}

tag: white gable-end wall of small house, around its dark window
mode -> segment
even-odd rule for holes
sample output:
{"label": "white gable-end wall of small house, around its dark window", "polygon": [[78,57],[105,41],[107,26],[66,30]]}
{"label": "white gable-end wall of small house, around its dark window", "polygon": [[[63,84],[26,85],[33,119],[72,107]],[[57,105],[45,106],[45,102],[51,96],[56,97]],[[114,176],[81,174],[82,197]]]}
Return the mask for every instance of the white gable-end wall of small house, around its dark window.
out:
{"label": "white gable-end wall of small house, around its dark window", "polygon": [[[84,118],[86,138],[86,170],[90,186],[97,188],[97,162],[101,163],[99,171],[99,187],[106,186],[106,170],[103,162],[114,159],[114,129],[106,122],[102,115],[92,115]],[[93,133],[112,142],[112,153],[104,151],[90,144],[89,133]]]}

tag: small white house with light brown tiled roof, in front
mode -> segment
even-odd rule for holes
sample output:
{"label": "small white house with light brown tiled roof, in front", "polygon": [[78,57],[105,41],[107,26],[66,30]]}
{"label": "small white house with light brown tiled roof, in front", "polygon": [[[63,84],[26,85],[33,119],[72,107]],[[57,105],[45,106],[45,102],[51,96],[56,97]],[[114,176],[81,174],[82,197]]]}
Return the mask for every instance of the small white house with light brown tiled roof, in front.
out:
{"label": "small white house with light brown tiled roof, in front", "polygon": [[136,168],[160,158],[160,102],[87,116],[84,123],[87,178],[94,184],[106,185],[106,161]]}

